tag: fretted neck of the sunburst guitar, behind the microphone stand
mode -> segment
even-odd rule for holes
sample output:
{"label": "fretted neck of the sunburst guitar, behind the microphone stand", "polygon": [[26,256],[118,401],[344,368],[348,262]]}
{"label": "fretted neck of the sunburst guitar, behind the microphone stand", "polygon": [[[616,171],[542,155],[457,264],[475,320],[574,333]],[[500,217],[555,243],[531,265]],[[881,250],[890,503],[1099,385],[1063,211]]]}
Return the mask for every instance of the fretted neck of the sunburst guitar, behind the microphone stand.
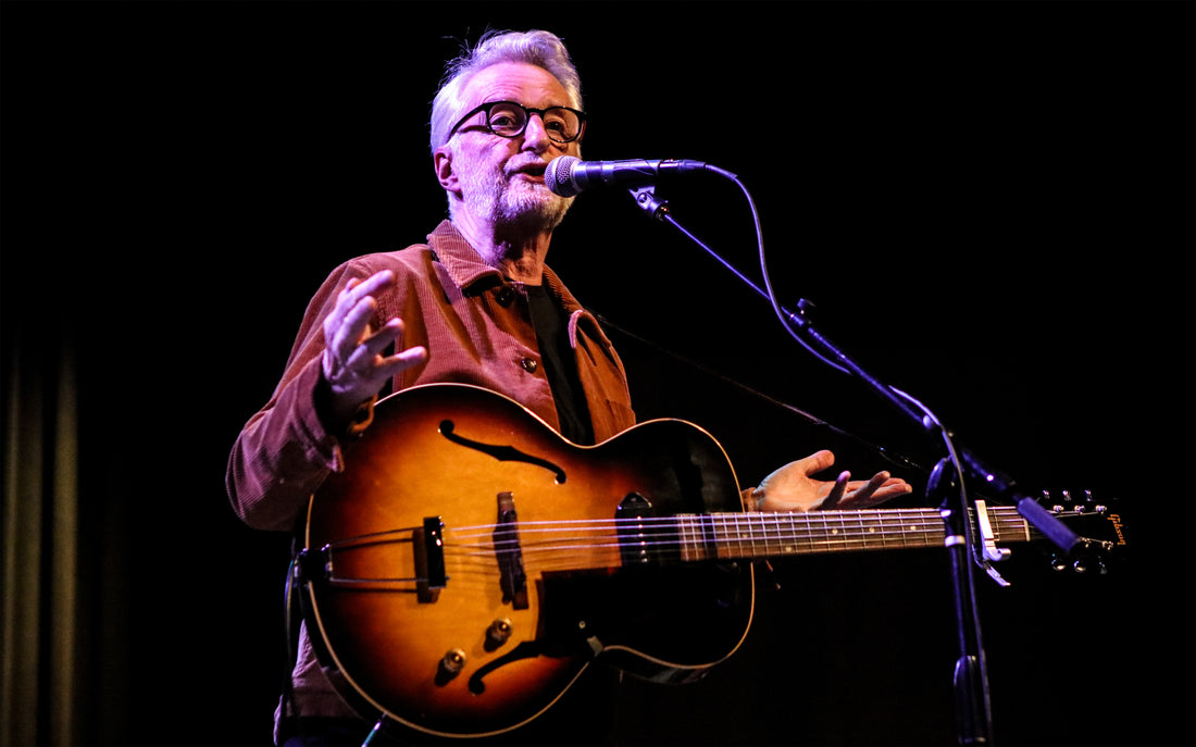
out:
{"label": "fretted neck of the sunburst guitar, behind the microphone stand", "polygon": [[[984,510],[999,544],[1032,538],[1017,508]],[[682,514],[676,519],[685,561],[933,547],[946,540],[944,519],[932,508]]]}

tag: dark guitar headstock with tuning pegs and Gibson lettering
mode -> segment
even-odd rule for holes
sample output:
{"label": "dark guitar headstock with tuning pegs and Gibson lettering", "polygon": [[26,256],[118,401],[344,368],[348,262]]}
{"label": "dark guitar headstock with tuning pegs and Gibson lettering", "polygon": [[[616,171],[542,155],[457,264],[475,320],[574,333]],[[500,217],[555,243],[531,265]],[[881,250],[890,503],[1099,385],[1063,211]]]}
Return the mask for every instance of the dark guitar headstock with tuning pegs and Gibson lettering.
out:
{"label": "dark guitar headstock with tuning pegs and Gibson lettering", "polygon": [[1061,573],[1109,573],[1109,562],[1115,556],[1121,559],[1129,549],[1125,518],[1115,503],[1097,500],[1091,490],[1043,490],[1038,504],[1080,537],[1070,552],[1055,549],[1049,553],[1051,568]]}

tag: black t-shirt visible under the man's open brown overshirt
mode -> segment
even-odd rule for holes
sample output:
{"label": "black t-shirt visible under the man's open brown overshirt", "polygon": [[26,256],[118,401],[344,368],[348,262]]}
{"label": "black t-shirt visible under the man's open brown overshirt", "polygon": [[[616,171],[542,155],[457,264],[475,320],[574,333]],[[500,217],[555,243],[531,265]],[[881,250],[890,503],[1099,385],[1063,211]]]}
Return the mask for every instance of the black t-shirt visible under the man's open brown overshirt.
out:
{"label": "black t-shirt visible under the man's open brown overshirt", "polygon": [[553,387],[561,433],[574,443],[593,443],[593,425],[586,405],[578,365],[569,341],[569,320],[543,286],[524,286],[531,305],[531,320],[544,359],[544,373]]}

